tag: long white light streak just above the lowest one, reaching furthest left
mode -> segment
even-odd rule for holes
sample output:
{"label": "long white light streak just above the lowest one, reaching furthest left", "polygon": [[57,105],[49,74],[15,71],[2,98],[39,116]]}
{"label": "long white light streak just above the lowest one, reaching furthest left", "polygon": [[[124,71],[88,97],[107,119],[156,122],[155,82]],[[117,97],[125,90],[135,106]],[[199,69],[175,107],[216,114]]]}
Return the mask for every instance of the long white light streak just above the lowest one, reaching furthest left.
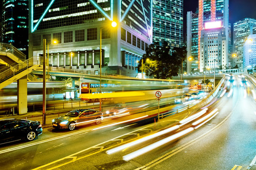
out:
{"label": "long white light streak just above the lowest one, reaching furthest left", "polygon": [[145,141],[147,141],[147,140],[149,140],[149,139],[153,139],[153,138],[155,138],[155,137],[157,137],[157,136],[161,136],[161,135],[164,135],[164,134],[166,134],[166,133],[169,133],[169,132],[171,132],[171,131],[173,131],[173,130],[176,130],[176,129],[179,128],[179,127],[180,127],[180,126],[175,125],[174,127],[167,128],[167,129],[162,130],[162,131],[160,131],[160,132],[157,132],[157,133],[155,133],[155,134],[153,134],[153,135],[146,136],[146,137],[143,137],[143,138],[138,139],[138,140],[136,140],[136,141],[133,141],[133,142],[131,142],[131,143],[124,144],[124,145],[118,146],[118,147],[116,147],[116,148],[110,149],[110,150],[107,151],[107,153],[108,153],[108,154],[116,153],[116,152],[121,151],[121,150],[123,150],[123,149],[125,149],[125,148],[127,148],[127,147],[130,147],[130,146],[133,146],[133,145],[136,145],[136,144],[140,144],[140,143],[145,142]]}

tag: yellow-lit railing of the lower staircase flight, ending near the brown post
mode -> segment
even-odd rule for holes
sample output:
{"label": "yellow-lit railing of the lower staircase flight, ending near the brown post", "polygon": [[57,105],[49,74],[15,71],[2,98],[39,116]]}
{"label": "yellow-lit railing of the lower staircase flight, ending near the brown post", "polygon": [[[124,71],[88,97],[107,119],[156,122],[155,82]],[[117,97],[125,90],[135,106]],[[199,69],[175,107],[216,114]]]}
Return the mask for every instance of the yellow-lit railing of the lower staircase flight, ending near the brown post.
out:
{"label": "yellow-lit railing of the lower staircase flight, ending near the brown post", "polygon": [[16,66],[1,72],[0,83],[34,65],[43,65],[43,57],[31,57],[25,60],[23,63],[17,64]]}

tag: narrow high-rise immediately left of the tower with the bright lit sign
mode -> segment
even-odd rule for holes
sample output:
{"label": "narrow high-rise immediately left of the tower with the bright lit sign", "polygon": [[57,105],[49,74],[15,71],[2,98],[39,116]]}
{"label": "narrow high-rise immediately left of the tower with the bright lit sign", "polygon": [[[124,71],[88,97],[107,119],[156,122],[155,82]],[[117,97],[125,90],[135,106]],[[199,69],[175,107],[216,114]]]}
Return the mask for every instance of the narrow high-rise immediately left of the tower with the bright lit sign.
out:
{"label": "narrow high-rise immediately left of the tower with the bright lit sign", "polygon": [[[198,71],[198,11],[187,13],[187,72]],[[189,58],[192,57],[190,60]]]}

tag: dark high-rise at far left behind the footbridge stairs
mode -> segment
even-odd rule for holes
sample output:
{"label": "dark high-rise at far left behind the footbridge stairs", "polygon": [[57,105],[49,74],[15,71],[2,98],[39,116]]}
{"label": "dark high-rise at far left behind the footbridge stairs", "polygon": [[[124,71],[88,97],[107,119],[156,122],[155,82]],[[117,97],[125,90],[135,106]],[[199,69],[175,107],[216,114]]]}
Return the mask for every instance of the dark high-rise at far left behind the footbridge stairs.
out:
{"label": "dark high-rise at far left behind the footbridge stairs", "polygon": [[28,0],[2,0],[2,42],[28,53]]}

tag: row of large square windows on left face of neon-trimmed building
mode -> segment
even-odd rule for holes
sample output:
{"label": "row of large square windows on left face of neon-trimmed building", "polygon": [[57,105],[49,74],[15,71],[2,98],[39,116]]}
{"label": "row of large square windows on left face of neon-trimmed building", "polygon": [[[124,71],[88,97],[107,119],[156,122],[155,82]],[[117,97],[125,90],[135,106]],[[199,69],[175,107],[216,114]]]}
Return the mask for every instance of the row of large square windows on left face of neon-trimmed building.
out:
{"label": "row of large square windows on left face of neon-trimmed building", "polygon": [[[57,43],[69,43],[73,42],[73,33],[74,33],[74,42],[82,42],[85,41],[85,30],[75,30],[75,31],[66,31],[62,33],[53,33],[53,39],[51,39],[51,34],[43,34],[43,39],[46,39],[47,44],[51,44],[52,40]],[[63,35],[63,42],[62,42]],[[98,30],[97,28],[88,28],[87,29],[87,41],[97,40],[98,38]],[[101,39],[110,38],[110,30],[105,27],[101,28]],[[33,36],[33,45],[39,46],[41,45],[41,34],[36,34]]]}

